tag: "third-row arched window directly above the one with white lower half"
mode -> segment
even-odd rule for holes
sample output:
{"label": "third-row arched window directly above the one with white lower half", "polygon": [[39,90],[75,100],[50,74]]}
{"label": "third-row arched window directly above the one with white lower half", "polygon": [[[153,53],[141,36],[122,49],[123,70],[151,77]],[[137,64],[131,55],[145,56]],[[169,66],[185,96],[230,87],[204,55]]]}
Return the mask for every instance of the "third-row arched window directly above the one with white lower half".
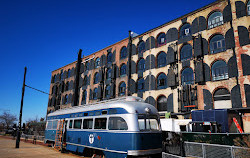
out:
{"label": "third-row arched window directly above the one with white lower half", "polygon": [[216,61],[212,66],[213,81],[228,79],[228,69],[225,61]]}

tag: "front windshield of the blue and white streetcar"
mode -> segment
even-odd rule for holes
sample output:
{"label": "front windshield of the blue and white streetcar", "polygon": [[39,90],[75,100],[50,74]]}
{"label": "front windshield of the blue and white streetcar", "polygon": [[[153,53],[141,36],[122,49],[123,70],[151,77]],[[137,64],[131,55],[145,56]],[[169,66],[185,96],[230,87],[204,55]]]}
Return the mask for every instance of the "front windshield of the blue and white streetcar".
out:
{"label": "front windshield of the blue and white streetcar", "polygon": [[139,115],[138,116],[139,129],[141,131],[145,130],[160,130],[159,121],[157,116],[154,115]]}

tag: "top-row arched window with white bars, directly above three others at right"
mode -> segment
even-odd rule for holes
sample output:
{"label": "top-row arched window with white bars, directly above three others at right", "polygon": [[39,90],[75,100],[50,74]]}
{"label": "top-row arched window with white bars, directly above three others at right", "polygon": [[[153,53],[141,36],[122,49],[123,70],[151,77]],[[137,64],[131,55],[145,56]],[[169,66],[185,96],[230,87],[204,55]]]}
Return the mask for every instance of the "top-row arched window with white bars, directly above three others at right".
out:
{"label": "top-row arched window with white bars, directly above three others at right", "polygon": [[223,15],[221,12],[214,12],[208,18],[208,29],[223,25]]}

